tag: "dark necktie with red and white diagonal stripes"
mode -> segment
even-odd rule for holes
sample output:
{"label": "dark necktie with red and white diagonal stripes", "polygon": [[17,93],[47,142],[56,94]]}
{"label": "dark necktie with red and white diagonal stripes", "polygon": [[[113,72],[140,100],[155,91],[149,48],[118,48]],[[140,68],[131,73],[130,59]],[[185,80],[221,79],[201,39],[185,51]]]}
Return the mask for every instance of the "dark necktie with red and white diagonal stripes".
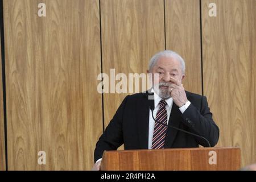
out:
{"label": "dark necktie with red and white diagonal stripes", "polygon": [[[167,124],[167,110],[166,110],[166,101],[161,100],[159,102],[159,109],[156,113],[156,121],[160,123]],[[167,126],[161,125],[155,122],[153,140],[152,140],[152,149],[164,148],[164,141],[166,140],[166,131]]]}

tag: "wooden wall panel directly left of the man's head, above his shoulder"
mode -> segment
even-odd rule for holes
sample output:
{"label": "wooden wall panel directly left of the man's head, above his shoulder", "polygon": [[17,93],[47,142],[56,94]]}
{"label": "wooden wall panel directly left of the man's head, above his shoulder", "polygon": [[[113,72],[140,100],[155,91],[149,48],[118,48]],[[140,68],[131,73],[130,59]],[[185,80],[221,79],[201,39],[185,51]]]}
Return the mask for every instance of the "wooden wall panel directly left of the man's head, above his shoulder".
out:
{"label": "wooden wall panel directly left of the man's head, above his shoulder", "polygon": [[[150,58],[164,50],[163,1],[101,1],[101,27],[103,72],[146,73]],[[126,95],[104,94],[105,127]]]}

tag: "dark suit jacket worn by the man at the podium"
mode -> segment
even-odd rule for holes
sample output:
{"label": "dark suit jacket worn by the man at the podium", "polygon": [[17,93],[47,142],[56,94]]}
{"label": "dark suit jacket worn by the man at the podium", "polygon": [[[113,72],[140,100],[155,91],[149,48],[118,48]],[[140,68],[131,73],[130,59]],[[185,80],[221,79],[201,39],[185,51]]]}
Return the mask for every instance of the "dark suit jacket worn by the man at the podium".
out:
{"label": "dark suit jacket worn by the man at the podium", "polygon": [[[94,151],[94,162],[102,158],[105,150],[117,150],[123,143],[125,150],[148,148],[148,123],[150,103],[149,93],[126,96],[113,119],[101,135]],[[207,98],[187,92],[191,102],[181,114],[174,103],[168,124],[190,131],[209,140],[213,147],[218,142],[219,129],[212,119]],[[208,143],[199,137],[186,134],[168,127],[164,148],[208,147]]]}

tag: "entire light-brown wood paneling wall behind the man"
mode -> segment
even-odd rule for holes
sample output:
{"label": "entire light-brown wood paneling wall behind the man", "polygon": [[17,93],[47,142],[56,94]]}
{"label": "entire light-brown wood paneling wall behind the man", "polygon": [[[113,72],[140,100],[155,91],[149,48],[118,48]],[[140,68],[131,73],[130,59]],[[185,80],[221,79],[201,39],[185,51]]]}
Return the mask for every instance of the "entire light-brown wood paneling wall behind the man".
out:
{"label": "entire light-brown wood paneling wall behind the man", "polygon": [[[42,2],[46,17],[38,16]],[[255,163],[255,7],[255,0],[4,0],[9,169],[91,169],[97,139],[127,95],[98,93],[98,74],[110,81],[112,68],[146,73],[165,47],[184,57],[186,90],[202,94],[203,84],[218,146],[240,146],[242,166]],[[2,96],[0,89],[1,104]],[[2,105],[0,132],[4,169]]]}

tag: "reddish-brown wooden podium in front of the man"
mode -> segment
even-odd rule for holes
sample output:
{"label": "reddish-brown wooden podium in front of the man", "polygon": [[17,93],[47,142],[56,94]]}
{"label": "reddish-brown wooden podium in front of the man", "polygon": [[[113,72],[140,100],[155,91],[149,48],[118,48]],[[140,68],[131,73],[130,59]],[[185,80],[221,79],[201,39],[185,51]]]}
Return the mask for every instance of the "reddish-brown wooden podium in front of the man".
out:
{"label": "reddish-brown wooden podium in front of the man", "polygon": [[172,148],[105,151],[101,170],[238,170],[240,148]]}

